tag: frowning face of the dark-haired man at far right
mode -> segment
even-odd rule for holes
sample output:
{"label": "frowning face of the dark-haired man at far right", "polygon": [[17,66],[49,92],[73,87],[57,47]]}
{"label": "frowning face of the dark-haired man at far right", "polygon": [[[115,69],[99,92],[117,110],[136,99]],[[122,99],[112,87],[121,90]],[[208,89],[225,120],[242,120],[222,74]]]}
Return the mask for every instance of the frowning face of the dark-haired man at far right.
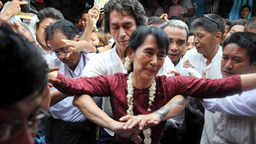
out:
{"label": "frowning face of the dark-haired man at far right", "polygon": [[248,74],[251,71],[252,65],[249,63],[247,50],[234,43],[226,45],[221,59],[223,78],[236,74]]}

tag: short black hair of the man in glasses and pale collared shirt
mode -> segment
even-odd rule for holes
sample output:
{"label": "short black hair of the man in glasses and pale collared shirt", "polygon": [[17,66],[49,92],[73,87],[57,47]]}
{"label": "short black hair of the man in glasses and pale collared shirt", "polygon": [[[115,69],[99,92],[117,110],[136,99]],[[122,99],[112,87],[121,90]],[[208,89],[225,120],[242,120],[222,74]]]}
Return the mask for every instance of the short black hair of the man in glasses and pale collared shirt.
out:
{"label": "short black hair of the man in glasses and pale collared shirt", "polygon": [[78,35],[79,30],[67,20],[57,20],[46,28],[46,42],[53,39],[55,32],[61,32],[68,40],[73,40]]}

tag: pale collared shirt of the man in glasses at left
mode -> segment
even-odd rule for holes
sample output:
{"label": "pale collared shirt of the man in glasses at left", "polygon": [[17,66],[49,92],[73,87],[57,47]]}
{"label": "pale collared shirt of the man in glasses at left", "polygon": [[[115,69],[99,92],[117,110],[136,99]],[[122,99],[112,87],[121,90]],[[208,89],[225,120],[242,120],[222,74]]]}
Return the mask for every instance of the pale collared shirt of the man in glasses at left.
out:
{"label": "pale collared shirt of the man in glasses at left", "polygon": [[[69,78],[75,78],[82,75],[82,71],[89,59],[95,56],[96,54],[91,53],[81,54],[80,61],[74,71],[72,71],[66,64],[62,63],[57,57],[45,56],[45,59],[49,62],[50,67],[59,67],[60,70],[58,72],[60,72],[61,74]],[[51,90],[54,89],[55,88],[51,88]],[[63,121],[84,121],[86,119],[84,115],[76,106],[72,104],[73,98],[73,96],[68,96],[67,98],[51,106],[49,111],[51,112],[52,116]],[[94,97],[93,100],[97,104],[99,103],[98,97]]]}

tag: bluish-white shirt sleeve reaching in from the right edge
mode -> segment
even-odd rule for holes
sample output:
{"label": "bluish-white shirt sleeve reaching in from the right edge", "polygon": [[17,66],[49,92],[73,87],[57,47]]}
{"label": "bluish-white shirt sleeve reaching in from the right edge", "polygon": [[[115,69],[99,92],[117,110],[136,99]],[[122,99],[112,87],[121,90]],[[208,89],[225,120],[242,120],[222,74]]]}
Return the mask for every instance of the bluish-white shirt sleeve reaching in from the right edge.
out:
{"label": "bluish-white shirt sleeve reaching in from the right edge", "polygon": [[212,113],[216,111],[232,115],[256,116],[256,89],[225,98],[203,99],[203,106]]}

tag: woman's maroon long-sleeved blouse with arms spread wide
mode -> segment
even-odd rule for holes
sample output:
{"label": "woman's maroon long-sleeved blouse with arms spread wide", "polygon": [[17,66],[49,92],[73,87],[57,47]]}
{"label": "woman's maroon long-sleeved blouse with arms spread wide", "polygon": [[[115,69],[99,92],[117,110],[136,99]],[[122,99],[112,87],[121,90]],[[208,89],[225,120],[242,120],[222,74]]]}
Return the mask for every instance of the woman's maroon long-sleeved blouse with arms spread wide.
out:
{"label": "woman's maroon long-sleeved blouse with arms spread wide", "polygon": [[[128,109],[127,79],[128,75],[116,73],[108,76],[81,77],[71,79],[58,73],[57,79],[60,84],[54,84],[59,91],[66,94],[88,94],[91,96],[111,96],[110,103],[115,120],[126,115]],[[166,76],[155,77],[157,86],[155,101],[151,106],[154,112],[164,106],[172,97],[177,94],[190,95],[198,98],[224,97],[241,92],[241,79],[239,75],[230,76],[224,79],[196,79],[187,76]],[[149,89],[134,88],[134,115],[149,114]],[[166,121],[160,122],[152,128],[152,143],[159,143]],[[143,133],[140,136],[144,138]],[[134,143],[130,139],[117,135],[121,143]]]}

